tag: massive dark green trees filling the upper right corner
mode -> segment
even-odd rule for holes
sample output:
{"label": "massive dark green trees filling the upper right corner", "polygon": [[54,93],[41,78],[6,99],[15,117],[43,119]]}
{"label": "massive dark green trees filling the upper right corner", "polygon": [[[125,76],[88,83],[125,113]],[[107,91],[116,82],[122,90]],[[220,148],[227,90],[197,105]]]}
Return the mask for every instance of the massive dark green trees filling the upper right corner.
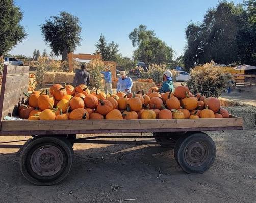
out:
{"label": "massive dark green trees filling the upper right corner", "polygon": [[[245,4],[252,2],[255,8],[255,1]],[[246,10],[241,4],[223,1],[206,12],[202,23],[190,22],[186,29],[185,66],[211,60],[226,65],[255,64],[255,22],[249,23],[252,11],[249,6]]]}

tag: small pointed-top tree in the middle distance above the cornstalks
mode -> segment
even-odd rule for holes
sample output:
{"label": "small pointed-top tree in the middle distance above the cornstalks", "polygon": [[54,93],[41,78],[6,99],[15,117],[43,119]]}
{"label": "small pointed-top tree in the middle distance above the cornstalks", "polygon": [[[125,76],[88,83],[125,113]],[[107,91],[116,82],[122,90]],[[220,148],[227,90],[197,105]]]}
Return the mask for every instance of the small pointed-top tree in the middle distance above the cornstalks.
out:
{"label": "small pointed-top tree in the middle distance above the cornstalks", "polygon": [[105,39],[103,35],[99,36],[98,42],[95,44],[96,46],[96,53],[100,53],[101,57],[105,61],[115,61],[116,54],[118,53],[119,45],[111,42],[108,44],[108,41]]}

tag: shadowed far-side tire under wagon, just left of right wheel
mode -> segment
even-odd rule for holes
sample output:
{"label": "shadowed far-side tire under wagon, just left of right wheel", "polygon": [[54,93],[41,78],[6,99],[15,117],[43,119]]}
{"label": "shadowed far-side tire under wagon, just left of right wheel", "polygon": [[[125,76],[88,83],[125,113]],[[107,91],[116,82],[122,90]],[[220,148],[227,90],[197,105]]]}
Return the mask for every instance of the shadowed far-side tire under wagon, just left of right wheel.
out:
{"label": "shadowed far-side tire under wagon, just left of right wheel", "polygon": [[157,142],[170,142],[170,144],[160,144],[161,147],[165,148],[174,149],[174,146],[180,136],[181,134],[178,132],[153,132],[153,137]]}

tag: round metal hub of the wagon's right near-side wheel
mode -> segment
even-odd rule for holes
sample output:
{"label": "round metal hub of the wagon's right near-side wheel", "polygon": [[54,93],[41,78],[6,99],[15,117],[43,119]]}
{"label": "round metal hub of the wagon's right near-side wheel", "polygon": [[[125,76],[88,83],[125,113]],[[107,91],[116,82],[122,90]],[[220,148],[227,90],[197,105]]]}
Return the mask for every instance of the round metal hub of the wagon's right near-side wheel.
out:
{"label": "round metal hub of the wagon's right near-side wheel", "polygon": [[191,166],[200,166],[208,156],[208,149],[203,142],[195,142],[188,145],[185,160]]}

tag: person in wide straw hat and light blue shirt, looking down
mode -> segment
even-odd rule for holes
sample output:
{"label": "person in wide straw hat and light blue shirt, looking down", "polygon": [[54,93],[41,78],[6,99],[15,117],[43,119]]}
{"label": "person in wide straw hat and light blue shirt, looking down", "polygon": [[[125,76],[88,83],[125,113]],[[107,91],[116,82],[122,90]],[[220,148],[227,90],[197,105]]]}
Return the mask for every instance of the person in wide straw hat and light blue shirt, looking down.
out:
{"label": "person in wide straw hat and light blue shirt, looking down", "polygon": [[119,77],[116,85],[117,92],[124,92],[125,94],[131,93],[133,81],[130,77],[126,75],[127,73],[125,73],[125,71],[120,71],[120,73],[117,74],[117,76]]}

